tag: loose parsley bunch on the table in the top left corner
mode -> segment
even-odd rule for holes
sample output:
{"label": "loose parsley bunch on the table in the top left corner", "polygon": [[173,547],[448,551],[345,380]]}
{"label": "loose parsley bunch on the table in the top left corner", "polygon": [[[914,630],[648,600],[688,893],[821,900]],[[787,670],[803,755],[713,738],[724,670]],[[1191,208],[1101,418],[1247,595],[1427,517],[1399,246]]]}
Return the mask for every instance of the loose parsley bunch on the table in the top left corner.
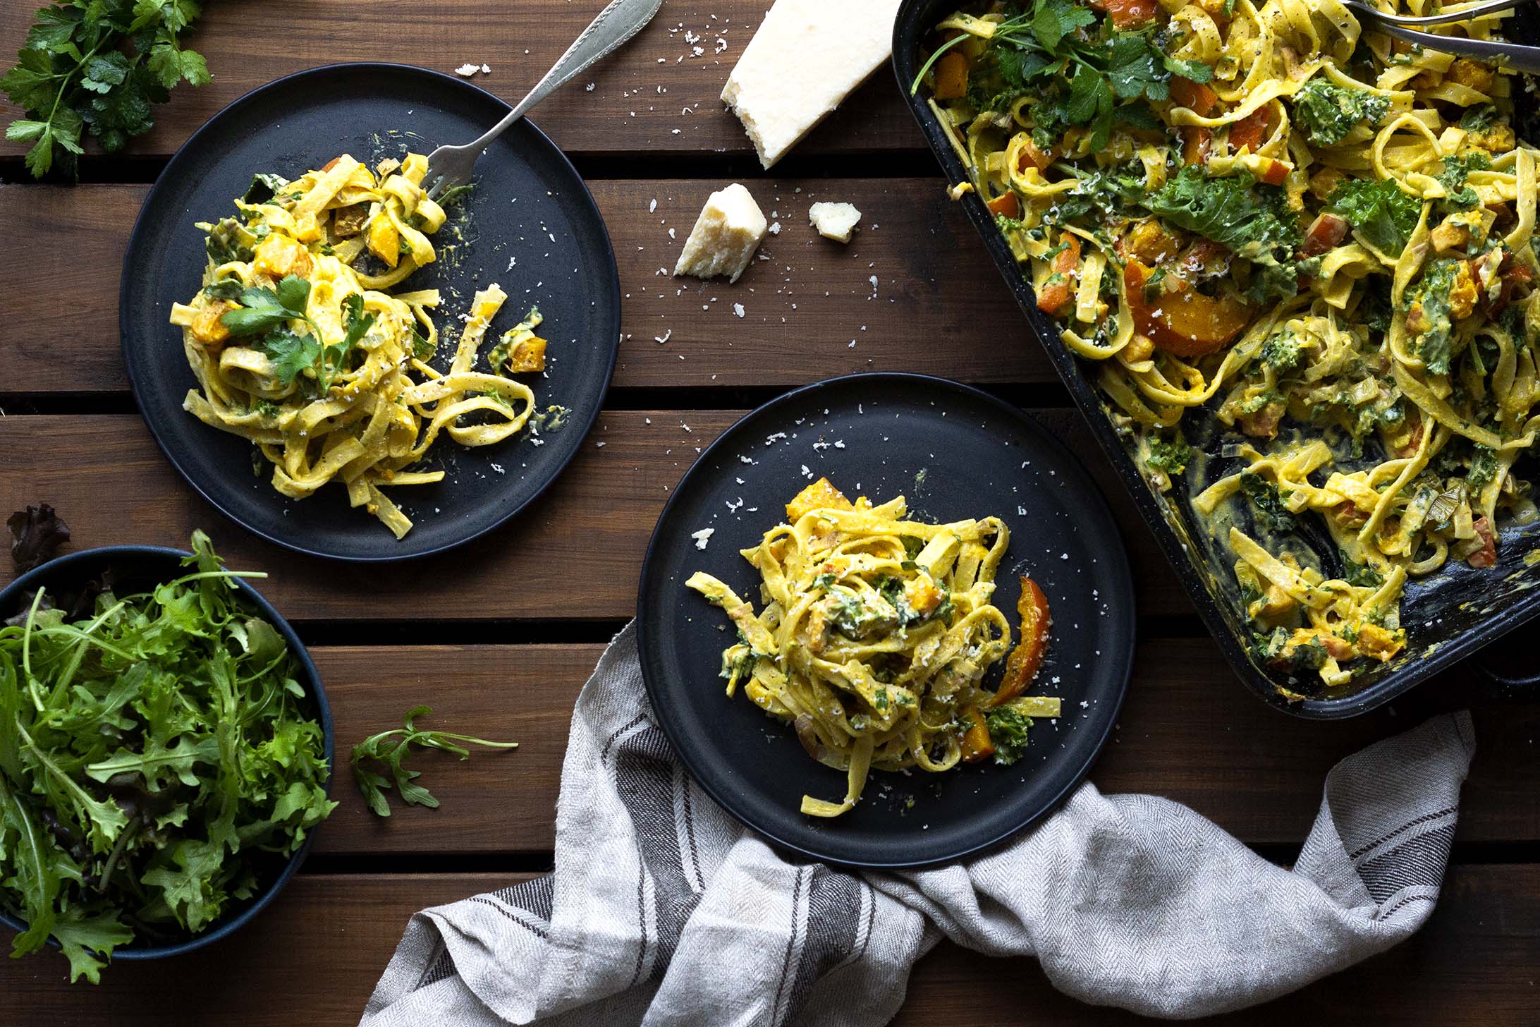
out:
{"label": "loose parsley bunch on the table in the top left corner", "polygon": [[26,168],[42,179],[57,163],[72,174],[83,132],[117,152],[154,126],[151,105],[179,82],[209,82],[208,63],[182,46],[200,0],[59,0],[32,15],[17,63],[0,79],[25,117],[6,126],[32,143]]}

